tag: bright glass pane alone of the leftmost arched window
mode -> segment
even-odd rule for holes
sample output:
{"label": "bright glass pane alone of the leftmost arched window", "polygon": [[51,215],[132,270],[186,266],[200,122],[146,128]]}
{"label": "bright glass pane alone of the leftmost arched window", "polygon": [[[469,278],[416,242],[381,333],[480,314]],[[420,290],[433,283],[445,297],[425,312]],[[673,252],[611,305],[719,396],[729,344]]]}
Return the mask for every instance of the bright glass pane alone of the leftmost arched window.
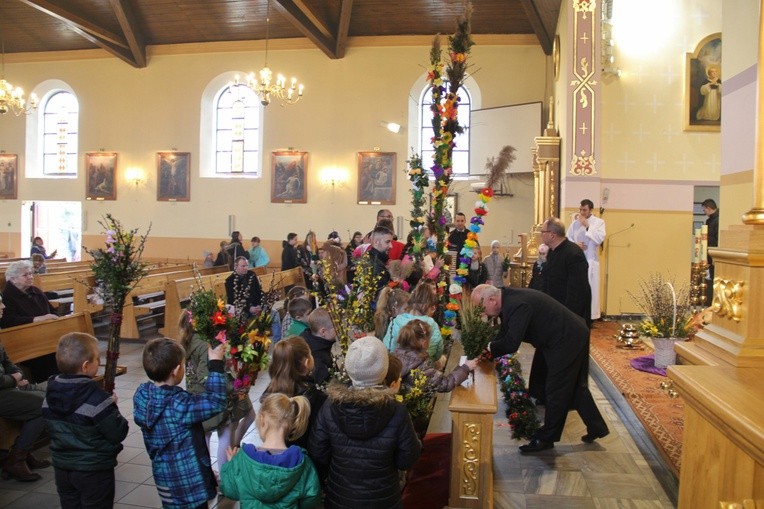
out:
{"label": "bright glass pane alone of the leftmost arched window", "polygon": [[42,104],[42,173],[77,175],[79,104],[71,92],[57,90]]}

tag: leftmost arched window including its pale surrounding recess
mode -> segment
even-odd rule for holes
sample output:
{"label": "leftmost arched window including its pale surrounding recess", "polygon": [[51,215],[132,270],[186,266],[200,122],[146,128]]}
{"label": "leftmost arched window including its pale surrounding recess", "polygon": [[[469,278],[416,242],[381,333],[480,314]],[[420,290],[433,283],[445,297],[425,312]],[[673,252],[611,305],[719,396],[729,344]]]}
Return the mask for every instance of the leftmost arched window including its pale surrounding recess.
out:
{"label": "leftmost arched window including its pale surrounding recess", "polygon": [[61,80],[45,80],[32,92],[41,99],[37,110],[27,117],[26,177],[77,178],[77,95]]}

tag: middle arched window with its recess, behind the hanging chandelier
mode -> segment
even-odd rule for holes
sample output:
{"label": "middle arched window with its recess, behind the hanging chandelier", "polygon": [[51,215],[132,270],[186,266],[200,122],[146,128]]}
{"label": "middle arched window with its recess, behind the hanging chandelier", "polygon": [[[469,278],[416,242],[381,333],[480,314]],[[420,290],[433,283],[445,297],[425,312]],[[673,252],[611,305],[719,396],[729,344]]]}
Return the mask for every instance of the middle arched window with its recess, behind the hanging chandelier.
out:
{"label": "middle arched window with its recess, behind the hanging chandelier", "polygon": [[250,88],[233,85],[235,76],[233,72],[221,74],[204,90],[201,177],[262,176],[262,107]]}

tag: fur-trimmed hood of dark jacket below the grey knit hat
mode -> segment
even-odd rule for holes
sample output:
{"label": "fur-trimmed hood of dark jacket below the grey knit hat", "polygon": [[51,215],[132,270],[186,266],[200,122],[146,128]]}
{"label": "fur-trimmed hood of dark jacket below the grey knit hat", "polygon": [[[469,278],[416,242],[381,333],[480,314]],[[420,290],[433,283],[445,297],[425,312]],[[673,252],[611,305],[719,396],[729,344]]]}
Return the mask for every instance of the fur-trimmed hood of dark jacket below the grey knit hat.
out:
{"label": "fur-trimmed hood of dark jacket below the grey knit hat", "polygon": [[377,436],[395,414],[390,390],[380,387],[355,389],[331,384],[326,390],[337,426],[348,437],[366,440]]}

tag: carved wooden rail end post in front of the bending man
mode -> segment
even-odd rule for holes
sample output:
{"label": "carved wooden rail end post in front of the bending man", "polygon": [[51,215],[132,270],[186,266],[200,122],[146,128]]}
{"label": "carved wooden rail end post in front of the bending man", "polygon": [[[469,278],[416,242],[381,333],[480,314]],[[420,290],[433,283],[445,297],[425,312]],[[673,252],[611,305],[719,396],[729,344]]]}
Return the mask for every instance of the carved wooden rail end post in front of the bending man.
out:
{"label": "carved wooden rail end post in front of the bending man", "polygon": [[493,416],[498,410],[496,371],[481,362],[470,387],[451,394],[451,483],[448,506],[493,507]]}

